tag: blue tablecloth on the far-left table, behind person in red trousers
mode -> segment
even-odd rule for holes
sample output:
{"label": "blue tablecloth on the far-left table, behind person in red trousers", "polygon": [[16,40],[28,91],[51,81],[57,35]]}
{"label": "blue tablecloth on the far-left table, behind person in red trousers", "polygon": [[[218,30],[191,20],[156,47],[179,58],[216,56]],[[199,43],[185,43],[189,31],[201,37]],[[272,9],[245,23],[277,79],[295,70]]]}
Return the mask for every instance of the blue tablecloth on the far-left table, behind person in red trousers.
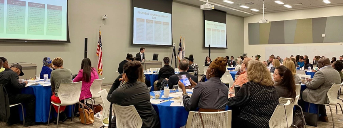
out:
{"label": "blue tablecloth on the far-left table, behind person in red trousers", "polygon": [[[36,85],[36,86],[28,86],[26,88],[22,89],[23,94],[32,94],[36,96],[36,111],[35,111],[35,121],[36,122],[48,122],[48,116],[49,116],[49,108],[50,108],[50,98],[52,96],[51,92],[51,86],[42,86],[42,85]],[[20,120],[23,120],[22,118],[22,112],[21,107],[19,116]],[[54,107],[51,107],[51,117],[55,115],[57,117],[57,113],[54,109]],[[76,109],[78,110],[78,109]],[[25,105],[24,105],[24,111],[25,111]],[[68,117],[71,117],[71,106],[67,106],[65,110]],[[24,114],[26,114],[24,112]],[[50,117],[50,118],[51,118]]]}

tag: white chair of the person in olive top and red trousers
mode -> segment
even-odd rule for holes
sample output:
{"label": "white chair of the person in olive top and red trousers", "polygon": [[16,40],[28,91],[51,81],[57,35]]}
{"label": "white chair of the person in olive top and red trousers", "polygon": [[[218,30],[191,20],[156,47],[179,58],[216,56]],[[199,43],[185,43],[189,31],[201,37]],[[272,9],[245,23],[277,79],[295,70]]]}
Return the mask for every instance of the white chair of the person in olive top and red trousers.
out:
{"label": "white chair of the person in olive top and red trousers", "polygon": [[[50,114],[51,114],[51,106],[52,104],[58,106],[58,112],[57,112],[57,125],[58,127],[58,118],[60,116],[60,107],[61,106],[68,106],[68,105],[74,105],[76,103],[79,103],[80,95],[81,95],[81,89],[82,89],[82,81],[75,82],[75,83],[61,83],[60,88],[58,90],[58,97],[61,100],[61,103],[55,103],[51,102],[50,104],[50,110],[49,110],[49,117],[48,117],[48,125],[50,125]],[[75,106],[76,107],[76,106]],[[74,108],[75,108],[74,107]],[[73,106],[71,108],[71,121],[73,121],[74,112],[73,112]],[[74,110],[75,111],[75,110]],[[86,117],[84,117],[86,120]],[[86,125],[86,124],[85,124]]]}

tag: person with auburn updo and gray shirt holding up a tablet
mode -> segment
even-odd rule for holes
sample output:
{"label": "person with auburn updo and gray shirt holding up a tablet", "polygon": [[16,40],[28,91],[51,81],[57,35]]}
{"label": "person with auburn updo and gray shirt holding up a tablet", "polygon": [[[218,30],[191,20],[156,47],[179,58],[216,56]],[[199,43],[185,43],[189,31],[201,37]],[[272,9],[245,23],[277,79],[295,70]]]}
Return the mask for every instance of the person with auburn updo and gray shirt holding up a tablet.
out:
{"label": "person with auburn updo and gray shirt holding up a tablet", "polygon": [[192,96],[188,96],[185,85],[178,82],[179,89],[182,89],[184,106],[187,111],[218,112],[224,111],[227,103],[228,88],[221,82],[220,78],[226,71],[226,60],[217,57],[211,63],[206,72],[208,81],[198,84],[191,80],[195,86]]}

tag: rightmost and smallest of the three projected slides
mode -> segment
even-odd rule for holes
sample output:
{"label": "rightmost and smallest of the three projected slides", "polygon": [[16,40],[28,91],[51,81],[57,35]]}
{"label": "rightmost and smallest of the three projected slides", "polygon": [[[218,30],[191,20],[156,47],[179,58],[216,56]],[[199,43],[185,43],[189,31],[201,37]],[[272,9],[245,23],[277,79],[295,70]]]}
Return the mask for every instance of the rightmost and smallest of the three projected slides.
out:
{"label": "rightmost and smallest of the three projected slides", "polygon": [[226,48],[226,24],[205,20],[205,46]]}

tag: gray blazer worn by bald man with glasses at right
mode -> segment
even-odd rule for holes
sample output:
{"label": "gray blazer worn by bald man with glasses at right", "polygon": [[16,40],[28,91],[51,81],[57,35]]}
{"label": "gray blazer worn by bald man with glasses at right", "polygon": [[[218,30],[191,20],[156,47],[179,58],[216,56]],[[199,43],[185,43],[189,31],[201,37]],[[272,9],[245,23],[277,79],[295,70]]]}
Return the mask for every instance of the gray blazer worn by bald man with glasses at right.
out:
{"label": "gray blazer worn by bald man with glasses at right", "polygon": [[341,83],[341,77],[337,70],[331,66],[325,67],[315,73],[312,81],[307,81],[307,89],[303,92],[303,99],[314,104],[326,104],[329,102],[327,93],[334,83]]}

